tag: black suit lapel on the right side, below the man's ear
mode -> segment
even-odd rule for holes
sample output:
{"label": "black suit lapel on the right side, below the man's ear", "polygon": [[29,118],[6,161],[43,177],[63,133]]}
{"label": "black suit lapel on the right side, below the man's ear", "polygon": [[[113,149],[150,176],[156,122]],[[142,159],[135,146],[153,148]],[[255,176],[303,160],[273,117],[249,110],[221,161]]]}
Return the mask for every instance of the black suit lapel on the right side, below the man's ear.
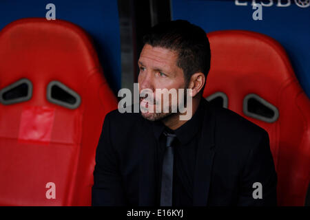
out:
{"label": "black suit lapel on the right side, below the man's ear", "polygon": [[193,206],[207,206],[211,170],[214,159],[215,115],[209,102],[203,100],[205,108],[203,129],[198,143],[194,175]]}

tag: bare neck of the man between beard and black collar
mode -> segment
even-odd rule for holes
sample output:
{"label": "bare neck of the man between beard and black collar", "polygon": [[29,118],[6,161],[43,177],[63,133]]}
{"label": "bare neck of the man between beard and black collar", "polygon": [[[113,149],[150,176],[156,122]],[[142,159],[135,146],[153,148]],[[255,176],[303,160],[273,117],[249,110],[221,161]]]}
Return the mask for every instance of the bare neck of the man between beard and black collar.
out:
{"label": "bare neck of the man between beard and black collar", "polygon": [[[199,98],[193,98],[192,100],[192,115],[197,111],[199,103],[200,103],[200,97]],[[167,126],[169,129],[176,130],[183,124],[187,122],[187,120],[180,120],[180,115],[186,115],[185,113],[174,113],[172,115],[169,115],[169,117],[164,118],[162,120],[163,124]],[[190,119],[189,119],[190,120]]]}

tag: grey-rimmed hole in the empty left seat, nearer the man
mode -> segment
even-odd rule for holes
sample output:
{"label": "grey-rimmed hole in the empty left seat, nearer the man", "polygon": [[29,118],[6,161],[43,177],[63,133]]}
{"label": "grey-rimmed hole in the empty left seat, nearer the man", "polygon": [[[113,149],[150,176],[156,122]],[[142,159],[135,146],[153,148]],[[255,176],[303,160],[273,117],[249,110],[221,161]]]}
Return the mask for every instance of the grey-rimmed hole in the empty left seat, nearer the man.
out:
{"label": "grey-rimmed hole in the empty left seat, nearer the man", "polygon": [[79,94],[59,81],[48,84],[47,98],[50,102],[68,109],[76,109],[81,104]]}

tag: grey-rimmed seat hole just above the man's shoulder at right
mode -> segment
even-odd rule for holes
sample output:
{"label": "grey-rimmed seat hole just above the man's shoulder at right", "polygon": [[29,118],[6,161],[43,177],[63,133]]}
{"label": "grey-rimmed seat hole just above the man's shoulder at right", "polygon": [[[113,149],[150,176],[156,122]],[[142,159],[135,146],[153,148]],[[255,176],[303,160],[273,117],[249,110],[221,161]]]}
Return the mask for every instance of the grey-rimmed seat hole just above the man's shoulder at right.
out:
{"label": "grey-rimmed seat hole just above the man's shoulder at right", "polygon": [[243,113],[264,122],[275,122],[279,117],[278,109],[256,94],[245,96],[243,100]]}

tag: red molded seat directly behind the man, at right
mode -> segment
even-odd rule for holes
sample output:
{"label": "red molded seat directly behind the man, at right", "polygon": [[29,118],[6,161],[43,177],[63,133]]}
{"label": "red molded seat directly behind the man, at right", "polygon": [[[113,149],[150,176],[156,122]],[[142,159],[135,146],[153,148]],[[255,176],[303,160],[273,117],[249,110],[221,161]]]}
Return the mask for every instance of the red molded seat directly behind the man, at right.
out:
{"label": "red molded seat directly behind the man, at right", "polygon": [[303,206],[310,175],[310,102],[285,50],[256,32],[207,36],[211,69],[203,96],[268,131],[278,173],[278,205]]}

